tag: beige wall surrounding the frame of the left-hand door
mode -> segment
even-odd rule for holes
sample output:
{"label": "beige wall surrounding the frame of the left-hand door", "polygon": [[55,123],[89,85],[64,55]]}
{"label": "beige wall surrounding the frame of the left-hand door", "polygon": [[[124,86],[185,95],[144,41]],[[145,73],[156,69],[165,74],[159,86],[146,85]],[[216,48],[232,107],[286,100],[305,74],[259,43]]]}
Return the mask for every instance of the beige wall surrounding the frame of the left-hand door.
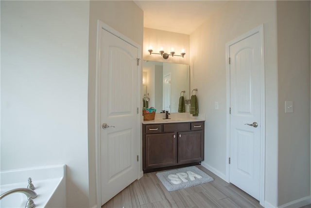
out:
{"label": "beige wall surrounding the frame of the left-hand door", "polygon": [[[89,207],[96,204],[95,164],[95,70],[97,19],[141,45],[143,41],[143,12],[129,0],[92,0],[89,5],[89,63],[88,63],[88,161]],[[142,66],[142,62],[140,64]],[[142,70],[141,70],[142,74]],[[142,76],[141,76],[142,77]],[[142,101],[141,101],[142,107]],[[141,133],[141,132],[140,132]],[[139,136],[141,138],[141,135]],[[141,150],[140,146],[140,150]],[[140,152],[140,155],[142,152]],[[142,164],[140,164],[142,171]]]}

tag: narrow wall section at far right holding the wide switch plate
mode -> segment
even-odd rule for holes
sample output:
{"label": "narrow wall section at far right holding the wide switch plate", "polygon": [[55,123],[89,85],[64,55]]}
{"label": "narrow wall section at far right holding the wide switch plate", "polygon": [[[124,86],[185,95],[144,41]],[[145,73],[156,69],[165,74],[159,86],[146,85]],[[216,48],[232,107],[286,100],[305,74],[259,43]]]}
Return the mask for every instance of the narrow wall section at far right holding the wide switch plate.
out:
{"label": "narrow wall section at far right holding the wide switch plate", "polygon": [[[310,196],[310,1],[276,5],[278,204],[284,205]],[[285,101],[294,102],[294,113],[284,112]]]}

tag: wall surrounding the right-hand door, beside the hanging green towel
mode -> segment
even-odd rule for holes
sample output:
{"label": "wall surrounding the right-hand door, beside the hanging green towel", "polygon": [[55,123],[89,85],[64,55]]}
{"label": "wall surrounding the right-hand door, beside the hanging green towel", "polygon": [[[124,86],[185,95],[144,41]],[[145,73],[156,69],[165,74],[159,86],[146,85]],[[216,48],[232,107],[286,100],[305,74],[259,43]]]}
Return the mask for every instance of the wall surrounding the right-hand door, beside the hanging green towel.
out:
{"label": "wall surrounding the right-hand door, beside the hanging green towel", "polygon": [[[277,206],[276,1],[229,1],[190,35],[190,89],[198,88],[199,116],[206,119],[204,164],[225,177],[225,43],[264,24],[266,84],[265,200]],[[214,110],[214,102],[219,110]]]}

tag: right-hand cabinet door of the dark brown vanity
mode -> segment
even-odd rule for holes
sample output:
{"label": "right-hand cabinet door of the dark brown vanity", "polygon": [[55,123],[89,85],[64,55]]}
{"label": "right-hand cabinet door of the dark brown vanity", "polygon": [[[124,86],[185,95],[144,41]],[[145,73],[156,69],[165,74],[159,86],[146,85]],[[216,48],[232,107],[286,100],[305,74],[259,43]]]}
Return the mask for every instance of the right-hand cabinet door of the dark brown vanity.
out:
{"label": "right-hand cabinet door of the dark brown vanity", "polygon": [[201,162],[203,156],[203,131],[178,132],[178,164]]}

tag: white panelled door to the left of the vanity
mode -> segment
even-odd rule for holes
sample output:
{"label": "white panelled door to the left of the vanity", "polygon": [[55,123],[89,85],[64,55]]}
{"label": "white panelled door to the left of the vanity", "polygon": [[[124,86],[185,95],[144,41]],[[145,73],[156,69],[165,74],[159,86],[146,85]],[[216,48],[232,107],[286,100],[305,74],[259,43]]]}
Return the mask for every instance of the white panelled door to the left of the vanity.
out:
{"label": "white panelled door to the left of the vanity", "polygon": [[138,177],[138,48],[103,28],[100,34],[103,205]]}

